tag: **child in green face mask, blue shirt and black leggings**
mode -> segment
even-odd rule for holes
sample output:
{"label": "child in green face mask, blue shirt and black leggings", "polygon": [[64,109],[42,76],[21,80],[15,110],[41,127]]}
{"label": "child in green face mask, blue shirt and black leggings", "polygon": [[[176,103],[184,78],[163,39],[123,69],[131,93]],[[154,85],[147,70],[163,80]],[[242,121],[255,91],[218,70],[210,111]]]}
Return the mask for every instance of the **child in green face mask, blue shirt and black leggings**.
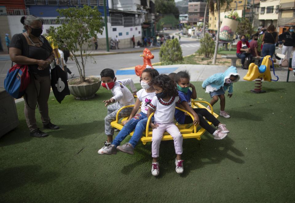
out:
{"label": "child in green face mask, blue shirt and black leggings", "polygon": [[[197,98],[197,92],[195,86],[190,83],[190,75],[187,71],[180,71],[175,75],[175,82],[177,84],[178,96],[181,105],[185,110],[190,112],[194,116],[194,120],[185,115],[184,112],[175,110],[175,119],[179,124],[193,123],[194,125],[199,124],[201,127],[206,129],[210,134],[214,136],[215,140],[222,140],[226,137],[226,133],[230,131],[226,129],[225,125],[220,123],[207,109],[203,108],[191,108],[191,99]],[[191,87],[192,90],[189,88]],[[217,130],[207,123],[203,116],[216,127]]]}

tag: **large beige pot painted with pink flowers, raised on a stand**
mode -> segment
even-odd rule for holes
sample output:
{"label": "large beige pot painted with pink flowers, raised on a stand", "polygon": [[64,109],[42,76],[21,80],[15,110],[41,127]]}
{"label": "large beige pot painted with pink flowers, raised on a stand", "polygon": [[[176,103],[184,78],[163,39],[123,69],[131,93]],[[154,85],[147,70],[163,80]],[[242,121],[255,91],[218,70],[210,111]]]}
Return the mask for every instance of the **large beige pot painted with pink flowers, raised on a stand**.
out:
{"label": "large beige pot painted with pink flowers, raised on a stand", "polygon": [[230,18],[224,18],[219,30],[219,39],[226,42],[232,42],[239,22]]}

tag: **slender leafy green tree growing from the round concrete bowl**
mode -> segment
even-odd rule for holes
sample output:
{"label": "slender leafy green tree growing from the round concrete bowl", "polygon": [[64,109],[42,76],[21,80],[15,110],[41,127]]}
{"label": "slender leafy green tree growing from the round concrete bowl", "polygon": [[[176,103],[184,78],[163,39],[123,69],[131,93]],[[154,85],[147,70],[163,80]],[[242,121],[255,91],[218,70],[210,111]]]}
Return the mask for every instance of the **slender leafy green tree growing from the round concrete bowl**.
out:
{"label": "slender leafy green tree growing from the round concrete bowl", "polygon": [[[57,23],[61,22],[61,18],[63,22],[57,28],[51,26],[49,36],[55,43],[62,42],[67,46],[76,62],[80,82],[85,82],[85,64],[87,59],[91,57],[88,49],[92,46],[93,37],[97,37],[98,33],[102,34],[104,29],[101,13],[97,7],[92,8],[86,5],[57,9],[57,12],[60,14],[60,16],[57,16]],[[83,50],[83,47],[86,47],[86,50]],[[80,51],[81,62],[79,62],[75,53],[77,51]]]}

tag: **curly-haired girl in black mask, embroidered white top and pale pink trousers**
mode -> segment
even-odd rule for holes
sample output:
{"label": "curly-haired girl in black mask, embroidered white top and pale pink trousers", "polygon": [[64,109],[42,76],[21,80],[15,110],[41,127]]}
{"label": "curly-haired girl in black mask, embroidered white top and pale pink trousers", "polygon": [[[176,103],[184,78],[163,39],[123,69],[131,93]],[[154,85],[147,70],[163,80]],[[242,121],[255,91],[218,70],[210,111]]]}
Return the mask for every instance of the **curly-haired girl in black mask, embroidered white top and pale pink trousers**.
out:
{"label": "curly-haired girl in black mask, embroidered white top and pale pink trousers", "polygon": [[155,77],[153,86],[156,96],[149,104],[147,115],[147,117],[149,117],[152,111],[155,110],[154,123],[150,123],[153,129],[151,145],[153,161],[151,173],[153,176],[159,175],[159,147],[165,131],[167,131],[174,140],[176,153],[175,170],[177,173],[183,173],[183,160],[181,160],[183,137],[179,129],[173,123],[175,105],[180,102],[176,84],[169,76],[161,74]]}

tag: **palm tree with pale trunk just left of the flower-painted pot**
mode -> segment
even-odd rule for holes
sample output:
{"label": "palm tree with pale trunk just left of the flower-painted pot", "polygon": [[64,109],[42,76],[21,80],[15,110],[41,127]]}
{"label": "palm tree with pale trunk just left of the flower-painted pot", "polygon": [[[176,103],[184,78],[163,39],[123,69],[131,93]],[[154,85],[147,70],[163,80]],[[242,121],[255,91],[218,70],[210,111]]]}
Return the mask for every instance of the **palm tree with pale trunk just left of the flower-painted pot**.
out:
{"label": "palm tree with pale trunk just left of the flower-painted pot", "polygon": [[216,36],[216,43],[215,43],[215,51],[214,51],[214,57],[213,57],[213,62],[212,64],[216,64],[216,57],[217,57],[217,48],[218,48],[218,43],[219,43],[219,30],[220,30],[220,8],[221,6],[225,6],[225,11],[230,8],[230,2],[231,0],[216,0],[217,6],[215,8],[215,1],[214,0],[208,0],[207,1],[209,4],[209,11],[211,14],[214,15],[214,11],[217,11],[218,15],[218,21],[217,21],[217,36]]}

